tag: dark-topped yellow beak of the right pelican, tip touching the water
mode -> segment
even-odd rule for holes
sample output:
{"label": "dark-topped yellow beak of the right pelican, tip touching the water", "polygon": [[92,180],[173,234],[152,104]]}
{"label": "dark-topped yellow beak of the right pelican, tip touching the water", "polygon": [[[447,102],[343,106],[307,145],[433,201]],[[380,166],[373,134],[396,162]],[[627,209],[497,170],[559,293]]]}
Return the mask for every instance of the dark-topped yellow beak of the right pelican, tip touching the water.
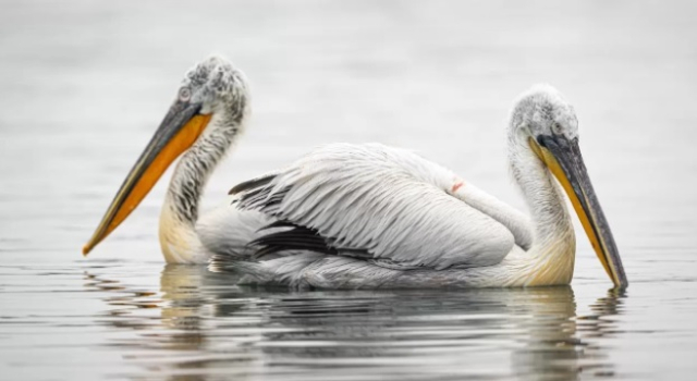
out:
{"label": "dark-topped yellow beak of the right pelican, tip touching the water", "polygon": [[530,147],[566,192],[598,259],[614,285],[626,288],[629,283],[612,232],[588,179],[578,138],[570,140],[562,135],[542,135],[537,142],[530,138]]}

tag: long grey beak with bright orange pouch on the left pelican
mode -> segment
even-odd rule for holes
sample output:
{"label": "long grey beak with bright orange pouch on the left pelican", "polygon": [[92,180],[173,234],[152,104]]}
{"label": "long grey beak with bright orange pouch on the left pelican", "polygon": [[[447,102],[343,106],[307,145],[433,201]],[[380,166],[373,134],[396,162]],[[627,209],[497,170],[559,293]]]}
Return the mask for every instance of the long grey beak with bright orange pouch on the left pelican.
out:
{"label": "long grey beak with bright orange pouch on the left pelican", "polygon": [[201,115],[199,110],[200,105],[183,101],[176,101],[170,108],[155,136],[123,181],[99,226],[83,247],[83,255],[86,256],[117,229],[140,204],[169,165],[196,142],[210,121],[210,115]]}

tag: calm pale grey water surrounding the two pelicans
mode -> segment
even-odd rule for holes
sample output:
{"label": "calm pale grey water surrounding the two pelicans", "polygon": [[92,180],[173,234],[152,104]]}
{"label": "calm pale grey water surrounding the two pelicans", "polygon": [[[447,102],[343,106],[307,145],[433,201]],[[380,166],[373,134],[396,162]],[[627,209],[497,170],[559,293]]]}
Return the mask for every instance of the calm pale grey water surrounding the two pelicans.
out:
{"label": "calm pale grey water surrounding the two pelicans", "polygon": [[[0,378],[690,380],[697,371],[697,7],[689,1],[3,1]],[[523,208],[517,94],[575,105],[631,287],[579,235],[571,287],[309,292],[166,267],[160,184],[80,248],[195,61],[253,86],[205,205],[329,142],[413,148]],[[579,234],[580,230],[578,231]]]}

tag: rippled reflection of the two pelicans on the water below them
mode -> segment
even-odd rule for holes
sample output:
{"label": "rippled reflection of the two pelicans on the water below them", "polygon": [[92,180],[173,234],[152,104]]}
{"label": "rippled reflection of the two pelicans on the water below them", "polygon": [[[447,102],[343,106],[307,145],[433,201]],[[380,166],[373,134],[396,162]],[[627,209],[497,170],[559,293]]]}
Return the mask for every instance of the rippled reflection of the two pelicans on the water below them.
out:
{"label": "rippled reflection of the two pelicans on the water below them", "polygon": [[100,320],[132,330],[107,343],[143,366],[129,376],[172,380],[612,376],[598,339],[619,331],[624,297],[610,291],[579,316],[571,286],[288,292],[169,265],[148,292],[86,276],[110,305]]}

